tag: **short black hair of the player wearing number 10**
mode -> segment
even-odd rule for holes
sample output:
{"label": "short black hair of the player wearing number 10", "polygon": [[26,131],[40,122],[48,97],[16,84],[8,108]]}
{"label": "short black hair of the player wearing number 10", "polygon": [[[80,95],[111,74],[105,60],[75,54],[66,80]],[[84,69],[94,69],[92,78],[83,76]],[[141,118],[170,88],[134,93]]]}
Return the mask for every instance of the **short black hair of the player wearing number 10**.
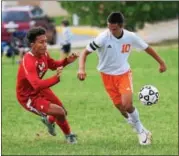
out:
{"label": "short black hair of the player wearing number 10", "polygon": [[121,12],[112,12],[108,18],[107,22],[111,24],[123,24],[124,23],[124,16]]}

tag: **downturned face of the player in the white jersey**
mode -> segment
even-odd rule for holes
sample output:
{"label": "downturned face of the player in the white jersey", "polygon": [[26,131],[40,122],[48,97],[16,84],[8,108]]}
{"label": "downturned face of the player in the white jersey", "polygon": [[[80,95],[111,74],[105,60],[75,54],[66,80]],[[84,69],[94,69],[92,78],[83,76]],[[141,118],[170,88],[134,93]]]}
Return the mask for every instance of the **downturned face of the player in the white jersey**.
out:
{"label": "downturned face of the player in the white jersey", "polygon": [[119,37],[121,35],[121,31],[122,31],[121,25],[108,23],[108,28],[114,36]]}

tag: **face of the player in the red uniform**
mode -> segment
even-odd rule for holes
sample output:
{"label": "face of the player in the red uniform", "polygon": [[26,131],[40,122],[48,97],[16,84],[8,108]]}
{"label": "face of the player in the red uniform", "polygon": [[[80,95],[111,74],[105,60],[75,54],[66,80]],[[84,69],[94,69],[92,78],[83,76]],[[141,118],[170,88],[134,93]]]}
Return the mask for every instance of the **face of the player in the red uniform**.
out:
{"label": "face of the player in the red uniform", "polygon": [[47,51],[47,37],[46,35],[40,35],[36,37],[34,43],[31,44],[32,51],[37,55],[42,55]]}

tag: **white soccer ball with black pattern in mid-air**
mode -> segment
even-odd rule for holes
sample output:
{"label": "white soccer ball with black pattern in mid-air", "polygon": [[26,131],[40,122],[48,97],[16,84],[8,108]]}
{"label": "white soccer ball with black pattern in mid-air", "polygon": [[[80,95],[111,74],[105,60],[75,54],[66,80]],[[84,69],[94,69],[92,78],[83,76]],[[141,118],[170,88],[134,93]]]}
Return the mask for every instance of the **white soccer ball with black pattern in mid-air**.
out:
{"label": "white soccer ball with black pattern in mid-air", "polygon": [[152,85],[145,85],[140,89],[139,100],[144,105],[153,105],[158,102],[158,89]]}

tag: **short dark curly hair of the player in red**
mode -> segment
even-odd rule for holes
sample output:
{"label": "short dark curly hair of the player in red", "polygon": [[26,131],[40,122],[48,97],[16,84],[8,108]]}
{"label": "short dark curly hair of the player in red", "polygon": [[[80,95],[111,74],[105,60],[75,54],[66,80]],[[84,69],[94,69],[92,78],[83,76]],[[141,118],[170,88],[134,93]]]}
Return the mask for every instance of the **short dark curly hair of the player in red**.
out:
{"label": "short dark curly hair of the player in red", "polygon": [[26,39],[28,44],[34,43],[37,36],[46,34],[46,30],[43,27],[33,27],[27,32]]}

